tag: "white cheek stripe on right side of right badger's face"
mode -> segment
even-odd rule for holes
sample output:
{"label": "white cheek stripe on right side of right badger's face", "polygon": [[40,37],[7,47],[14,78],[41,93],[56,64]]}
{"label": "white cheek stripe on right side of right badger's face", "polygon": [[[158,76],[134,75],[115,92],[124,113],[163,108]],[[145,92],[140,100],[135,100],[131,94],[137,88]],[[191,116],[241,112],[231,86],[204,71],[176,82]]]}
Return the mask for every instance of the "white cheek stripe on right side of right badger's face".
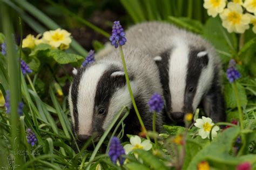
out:
{"label": "white cheek stripe on right side of right badger's face", "polygon": [[192,107],[194,111],[196,111],[198,104],[202,99],[202,96],[205,94],[208,88],[211,87],[211,83],[213,80],[213,76],[214,76],[214,70],[213,70],[214,68],[213,68],[213,61],[212,61],[213,56],[212,57],[208,56],[208,59],[209,59],[208,65],[201,70],[201,74],[197,84],[196,94],[194,95],[194,99],[192,103]]}

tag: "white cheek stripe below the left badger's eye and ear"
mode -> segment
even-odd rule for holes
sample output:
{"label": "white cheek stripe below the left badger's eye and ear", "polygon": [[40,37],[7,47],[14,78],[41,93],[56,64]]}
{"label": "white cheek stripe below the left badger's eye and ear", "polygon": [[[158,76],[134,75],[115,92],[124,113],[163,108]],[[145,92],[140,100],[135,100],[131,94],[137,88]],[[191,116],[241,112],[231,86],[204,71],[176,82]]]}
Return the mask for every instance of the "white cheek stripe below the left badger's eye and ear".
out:
{"label": "white cheek stripe below the left badger's eye and ear", "polygon": [[[136,81],[131,81],[131,88],[132,93],[135,95],[138,91],[138,86]],[[123,108],[123,106],[126,106],[131,109],[132,101],[130,97],[129,90],[127,88],[127,85],[124,87],[118,89],[116,93],[113,94],[111,97],[110,103],[109,103],[109,110],[107,111],[106,118],[104,120],[102,128],[106,130],[109,128],[110,123],[113,121],[113,118],[118,114],[120,109]]]}

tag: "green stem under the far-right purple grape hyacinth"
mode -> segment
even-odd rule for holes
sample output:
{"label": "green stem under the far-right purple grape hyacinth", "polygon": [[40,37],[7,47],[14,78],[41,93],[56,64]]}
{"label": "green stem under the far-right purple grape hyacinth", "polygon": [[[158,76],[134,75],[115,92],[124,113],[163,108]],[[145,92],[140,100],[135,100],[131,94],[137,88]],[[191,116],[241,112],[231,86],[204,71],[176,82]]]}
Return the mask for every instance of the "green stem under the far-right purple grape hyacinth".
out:
{"label": "green stem under the far-right purple grape hyacinth", "polygon": [[[238,108],[238,113],[239,113],[239,125],[240,125],[240,129],[242,131],[242,129],[244,129],[244,124],[243,124],[243,113],[242,113],[242,109],[241,109],[241,102],[240,102],[240,98],[238,95],[238,88],[237,88],[237,82],[232,83],[233,89],[234,89],[234,93],[235,93],[235,100],[237,100],[237,108]],[[244,152],[244,148],[246,145],[246,139],[245,139],[245,135],[241,133],[241,141],[242,141],[242,146],[239,150],[238,155],[241,155]]]}

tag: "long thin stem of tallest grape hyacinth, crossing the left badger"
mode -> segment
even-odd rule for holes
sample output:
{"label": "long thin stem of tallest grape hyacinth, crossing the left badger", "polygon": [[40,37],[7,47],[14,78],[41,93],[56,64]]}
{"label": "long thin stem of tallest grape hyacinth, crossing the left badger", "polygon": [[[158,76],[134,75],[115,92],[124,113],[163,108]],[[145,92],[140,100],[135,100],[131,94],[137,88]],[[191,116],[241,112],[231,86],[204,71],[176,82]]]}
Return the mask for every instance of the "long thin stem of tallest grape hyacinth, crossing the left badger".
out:
{"label": "long thin stem of tallest grape hyacinth, crossing the left badger", "polygon": [[122,46],[119,46],[119,50],[120,50],[120,54],[121,54],[121,58],[122,58],[122,62],[123,62],[123,67],[124,67],[124,73],[125,73],[125,79],[126,79],[127,87],[128,87],[128,90],[129,90],[129,93],[130,93],[130,96],[131,96],[131,100],[132,100],[132,105],[133,105],[133,108],[134,108],[134,110],[136,112],[136,115],[137,115],[137,117],[139,119],[139,123],[142,126],[143,132],[146,132],[145,125],[144,125],[144,123],[142,121],[142,117],[140,117],[137,105],[135,103],[135,100],[134,100],[134,97],[133,97],[133,94],[132,94],[132,89],[131,89],[131,85],[130,85],[130,81],[129,81],[129,76],[128,76],[128,73],[127,73],[127,68],[126,68],[126,64],[125,64],[125,60],[124,60],[124,53],[123,53]]}

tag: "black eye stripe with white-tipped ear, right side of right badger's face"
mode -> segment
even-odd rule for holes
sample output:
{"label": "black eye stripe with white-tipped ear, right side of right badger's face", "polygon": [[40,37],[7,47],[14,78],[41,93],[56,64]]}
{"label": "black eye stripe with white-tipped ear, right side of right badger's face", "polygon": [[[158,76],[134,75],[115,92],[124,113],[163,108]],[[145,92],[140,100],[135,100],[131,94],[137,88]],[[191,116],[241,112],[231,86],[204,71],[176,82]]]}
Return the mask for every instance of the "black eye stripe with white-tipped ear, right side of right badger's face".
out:
{"label": "black eye stripe with white-tipped ear, right side of right badger's face", "polygon": [[191,47],[187,65],[186,88],[184,96],[184,112],[193,112],[193,100],[196,95],[201,72],[208,65],[208,55],[204,49]]}

